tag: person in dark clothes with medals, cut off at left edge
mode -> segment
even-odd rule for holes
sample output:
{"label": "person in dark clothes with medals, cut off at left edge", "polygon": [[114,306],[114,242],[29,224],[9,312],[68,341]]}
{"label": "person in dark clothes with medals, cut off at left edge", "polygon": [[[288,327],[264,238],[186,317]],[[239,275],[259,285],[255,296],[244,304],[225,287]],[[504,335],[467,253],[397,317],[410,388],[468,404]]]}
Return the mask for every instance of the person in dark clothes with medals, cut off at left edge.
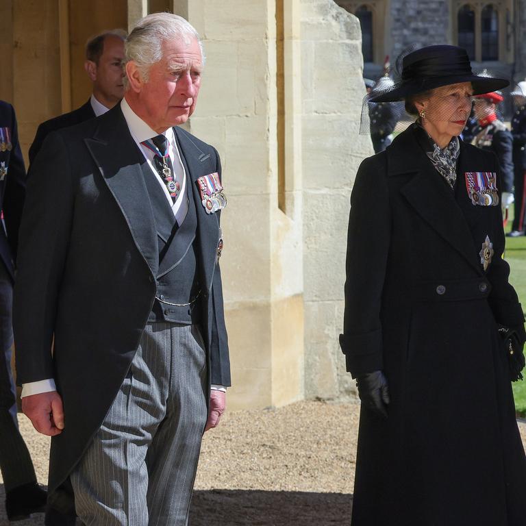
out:
{"label": "person in dark clothes with medals, cut off at left edge", "polygon": [[11,308],[18,226],[25,197],[25,168],[12,105],[0,101],[0,471],[10,521],[43,512],[46,492],[18,431],[16,391],[11,374]]}

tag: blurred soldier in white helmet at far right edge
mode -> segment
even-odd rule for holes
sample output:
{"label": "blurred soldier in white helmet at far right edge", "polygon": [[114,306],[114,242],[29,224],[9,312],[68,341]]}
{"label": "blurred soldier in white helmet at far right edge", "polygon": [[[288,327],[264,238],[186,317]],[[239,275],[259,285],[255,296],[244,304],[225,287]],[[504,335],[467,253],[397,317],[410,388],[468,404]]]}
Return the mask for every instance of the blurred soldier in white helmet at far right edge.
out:
{"label": "blurred soldier in white helmet at far right edge", "polygon": [[519,82],[511,95],[516,107],[512,118],[515,205],[512,231],[506,235],[516,238],[525,234],[526,82]]}

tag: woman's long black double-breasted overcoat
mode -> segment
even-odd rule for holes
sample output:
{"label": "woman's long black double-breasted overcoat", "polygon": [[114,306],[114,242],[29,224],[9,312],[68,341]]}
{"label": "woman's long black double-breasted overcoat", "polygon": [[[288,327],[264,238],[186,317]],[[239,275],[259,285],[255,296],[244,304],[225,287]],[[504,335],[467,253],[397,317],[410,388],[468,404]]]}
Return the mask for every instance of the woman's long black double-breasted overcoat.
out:
{"label": "woman's long black double-breasted overcoat", "polygon": [[[388,418],[362,407],[353,526],[523,526],[526,458],[497,323],[522,327],[501,207],[455,191],[410,126],[362,162],[351,196],[344,334],[353,377],[383,370]],[[482,244],[494,254],[487,271]]]}

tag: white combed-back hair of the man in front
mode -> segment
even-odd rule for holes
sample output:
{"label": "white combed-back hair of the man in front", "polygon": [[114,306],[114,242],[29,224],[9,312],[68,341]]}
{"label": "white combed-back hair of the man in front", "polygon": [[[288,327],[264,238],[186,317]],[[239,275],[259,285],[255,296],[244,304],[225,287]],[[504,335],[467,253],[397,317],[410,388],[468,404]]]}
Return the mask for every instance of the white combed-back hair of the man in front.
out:
{"label": "white combed-back hair of the man in front", "polygon": [[[171,13],[153,13],[141,18],[124,44],[125,62],[133,60],[145,81],[148,80],[149,69],[162,60],[162,44],[166,40],[182,40],[190,44],[192,38],[199,42],[201,60],[205,63],[203,43],[199,33],[182,16]],[[127,86],[127,77],[125,77]]]}

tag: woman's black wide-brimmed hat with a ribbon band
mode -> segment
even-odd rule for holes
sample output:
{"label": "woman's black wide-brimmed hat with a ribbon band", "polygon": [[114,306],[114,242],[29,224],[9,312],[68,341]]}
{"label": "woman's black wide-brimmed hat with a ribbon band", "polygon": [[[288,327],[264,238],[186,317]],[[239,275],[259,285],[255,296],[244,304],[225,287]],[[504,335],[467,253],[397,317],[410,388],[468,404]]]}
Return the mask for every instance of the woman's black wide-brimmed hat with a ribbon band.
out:
{"label": "woman's black wide-brimmed hat with a ribbon band", "polygon": [[497,91],[510,84],[506,79],[475,75],[466,50],[446,45],[427,46],[405,55],[401,77],[401,82],[381,94],[375,94],[369,101],[401,101],[417,93],[460,82],[471,82],[473,95]]}

